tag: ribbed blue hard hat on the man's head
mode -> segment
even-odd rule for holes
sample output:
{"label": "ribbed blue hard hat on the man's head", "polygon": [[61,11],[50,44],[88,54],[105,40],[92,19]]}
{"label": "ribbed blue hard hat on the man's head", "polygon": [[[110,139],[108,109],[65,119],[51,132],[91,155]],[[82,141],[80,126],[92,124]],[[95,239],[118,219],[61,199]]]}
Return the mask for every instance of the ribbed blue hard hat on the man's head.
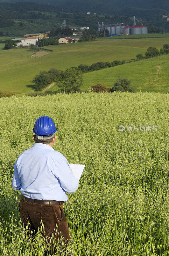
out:
{"label": "ribbed blue hard hat on the man's head", "polygon": [[49,135],[57,131],[53,119],[49,116],[39,117],[34,125],[33,132],[38,135]]}

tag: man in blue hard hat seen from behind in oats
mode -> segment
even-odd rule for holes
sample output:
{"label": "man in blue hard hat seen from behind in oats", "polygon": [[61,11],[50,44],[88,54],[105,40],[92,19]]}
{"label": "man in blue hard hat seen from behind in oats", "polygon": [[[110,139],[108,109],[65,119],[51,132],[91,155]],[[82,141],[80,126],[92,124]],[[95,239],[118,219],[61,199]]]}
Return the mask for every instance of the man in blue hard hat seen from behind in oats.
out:
{"label": "man in blue hard hat seen from behind in oats", "polygon": [[[48,242],[55,232],[56,239],[63,236],[68,244],[69,228],[63,203],[67,201],[66,192],[77,190],[78,180],[67,159],[52,148],[56,131],[52,118],[41,116],[36,120],[33,129],[35,144],[16,160],[12,187],[20,189],[22,194],[19,211],[24,227],[29,222],[28,234],[35,235],[42,220]],[[53,253],[52,242],[50,253]]]}

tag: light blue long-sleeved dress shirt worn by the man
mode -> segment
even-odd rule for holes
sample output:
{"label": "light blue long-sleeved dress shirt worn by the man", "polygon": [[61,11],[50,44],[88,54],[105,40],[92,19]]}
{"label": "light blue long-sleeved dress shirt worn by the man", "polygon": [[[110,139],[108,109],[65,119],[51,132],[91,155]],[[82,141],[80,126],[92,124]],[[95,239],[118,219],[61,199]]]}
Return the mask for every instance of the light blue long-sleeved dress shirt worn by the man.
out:
{"label": "light blue long-sleeved dress shirt worn by the man", "polygon": [[23,196],[40,200],[67,201],[67,193],[79,186],[70,165],[60,152],[35,143],[16,160],[12,187]]}

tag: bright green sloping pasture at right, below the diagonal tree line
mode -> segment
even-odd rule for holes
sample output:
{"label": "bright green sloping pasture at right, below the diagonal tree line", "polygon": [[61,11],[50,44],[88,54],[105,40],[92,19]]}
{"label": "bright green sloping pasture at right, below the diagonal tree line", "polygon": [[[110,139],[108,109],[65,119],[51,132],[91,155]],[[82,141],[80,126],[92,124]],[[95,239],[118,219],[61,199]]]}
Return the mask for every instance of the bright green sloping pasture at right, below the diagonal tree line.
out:
{"label": "bright green sloping pasture at right, below the diagonal tree line", "polygon": [[112,87],[118,76],[121,76],[129,79],[132,87],[142,92],[169,92],[168,62],[169,55],[163,55],[85,73],[83,75],[83,90],[87,90],[88,86],[95,84]]}

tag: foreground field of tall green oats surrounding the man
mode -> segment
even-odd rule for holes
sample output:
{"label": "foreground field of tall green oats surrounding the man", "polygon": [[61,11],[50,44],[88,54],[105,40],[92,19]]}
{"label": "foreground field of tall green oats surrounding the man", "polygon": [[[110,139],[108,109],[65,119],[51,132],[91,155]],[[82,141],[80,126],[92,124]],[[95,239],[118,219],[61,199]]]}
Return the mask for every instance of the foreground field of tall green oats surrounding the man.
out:
{"label": "foreground field of tall green oats surrounding the man", "polygon": [[[33,145],[36,118],[48,115],[58,128],[54,149],[71,164],[86,164],[64,203],[74,256],[168,256],[168,98],[115,92],[0,99],[0,255],[44,255],[39,236],[34,254],[25,238],[20,191],[11,181],[15,160]],[[127,128],[134,125],[145,131]]]}

